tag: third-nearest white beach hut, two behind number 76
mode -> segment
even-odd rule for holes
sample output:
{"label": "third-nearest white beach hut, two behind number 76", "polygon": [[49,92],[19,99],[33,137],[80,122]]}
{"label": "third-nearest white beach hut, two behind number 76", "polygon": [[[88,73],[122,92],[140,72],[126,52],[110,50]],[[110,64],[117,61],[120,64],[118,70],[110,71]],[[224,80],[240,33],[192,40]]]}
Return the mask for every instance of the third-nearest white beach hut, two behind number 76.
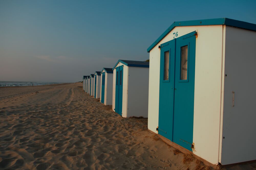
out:
{"label": "third-nearest white beach hut, two behind number 76", "polygon": [[103,68],[101,71],[100,102],[105,105],[112,105],[113,96],[113,70]]}

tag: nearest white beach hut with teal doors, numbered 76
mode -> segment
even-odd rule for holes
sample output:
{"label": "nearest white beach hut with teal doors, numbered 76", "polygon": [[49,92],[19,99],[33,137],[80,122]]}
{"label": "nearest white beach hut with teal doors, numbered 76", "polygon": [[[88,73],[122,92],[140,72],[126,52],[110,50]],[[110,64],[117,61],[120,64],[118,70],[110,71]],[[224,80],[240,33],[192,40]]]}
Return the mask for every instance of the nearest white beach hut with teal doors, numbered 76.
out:
{"label": "nearest white beach hut with teal doors, numbered 76", "polygon": [[256,160],[256,25],[174,22],[150,53],[148,129],[211,164]]}

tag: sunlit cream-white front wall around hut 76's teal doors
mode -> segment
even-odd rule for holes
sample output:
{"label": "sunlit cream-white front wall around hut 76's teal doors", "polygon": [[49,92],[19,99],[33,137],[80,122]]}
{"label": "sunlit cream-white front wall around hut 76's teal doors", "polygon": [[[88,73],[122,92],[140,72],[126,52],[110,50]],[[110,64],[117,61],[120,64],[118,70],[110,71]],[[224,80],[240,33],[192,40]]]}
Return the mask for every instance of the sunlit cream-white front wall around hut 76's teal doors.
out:
{"label": "sunlit cream-white front wall around hut 76's teal doors", "polygon": [[175,27],[150,51],[148,129],[156,132],[159,110],[160,50],[158,45],[197,31],[193,153],[212,164],[219,162],[223,26]]}

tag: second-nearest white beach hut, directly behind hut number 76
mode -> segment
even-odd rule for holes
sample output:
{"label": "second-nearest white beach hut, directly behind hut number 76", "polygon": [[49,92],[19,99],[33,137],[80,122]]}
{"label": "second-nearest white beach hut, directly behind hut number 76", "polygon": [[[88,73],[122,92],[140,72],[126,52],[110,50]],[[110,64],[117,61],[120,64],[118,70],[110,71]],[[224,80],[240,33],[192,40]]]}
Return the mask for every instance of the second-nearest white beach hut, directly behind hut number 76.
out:
{"label": "second-nearest white beach hut, directly behind hut number 76", "polygon": [[112,109],[122,117],[147,117],[149,62],[118,60],[113,67]]}

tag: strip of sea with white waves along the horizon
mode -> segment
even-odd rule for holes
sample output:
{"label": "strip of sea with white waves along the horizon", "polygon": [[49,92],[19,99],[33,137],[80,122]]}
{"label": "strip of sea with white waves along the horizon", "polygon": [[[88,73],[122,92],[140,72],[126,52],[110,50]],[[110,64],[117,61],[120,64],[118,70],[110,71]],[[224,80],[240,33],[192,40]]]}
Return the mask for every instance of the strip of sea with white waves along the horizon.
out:
{"label": "strip of sea with white waves along the horizon", "polygon": [[0,81],[0,87],[10,86],[39,86],[45,84],[58,84],[59,82],[35,82],[35,81]]}

